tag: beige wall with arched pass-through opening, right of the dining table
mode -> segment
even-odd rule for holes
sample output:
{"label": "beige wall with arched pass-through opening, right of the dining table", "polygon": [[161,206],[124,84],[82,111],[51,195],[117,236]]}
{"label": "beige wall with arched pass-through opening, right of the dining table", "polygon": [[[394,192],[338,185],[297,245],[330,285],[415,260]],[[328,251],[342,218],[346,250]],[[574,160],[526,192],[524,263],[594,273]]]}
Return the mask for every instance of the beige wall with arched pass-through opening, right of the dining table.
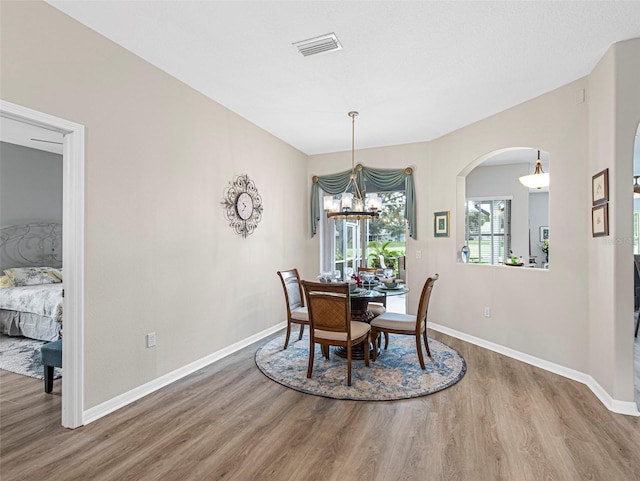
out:
{"label": "beige wall with arched pass-through opening, right of the dining table", "polygon": [[[414,167],[418,237],[407,241],[407,275],[412,292],[418,293],[429,274],[440,274],[430,306],[433,322],[586,371],[584,258],[589,217],[580,207],[589,185],[583,161],[587,105],[575,102],[582,88],[586,88],[585,79],[433,142],[364,150],[357,153],[356,161],[376,167]],[[464,244],[465,195],[458,176],[483,156],[510,147],[546,151],[553,165],[549,224],[553,267],[549,271],[458,262]],[[309,175],[330,170],[329,166],[335,171],[337,157],[312,156]],[[341,157],[344,170],[348,159],[345,154]],[[433,213],[446,210],[451,211],[451,236],[436,239]],[[421,259],[416,259],[418,250]],[[415,311],[417,302],[417,295],[411,294],[410,310]],[[491,307],[491,318],[483,316],[484,306]]]}

